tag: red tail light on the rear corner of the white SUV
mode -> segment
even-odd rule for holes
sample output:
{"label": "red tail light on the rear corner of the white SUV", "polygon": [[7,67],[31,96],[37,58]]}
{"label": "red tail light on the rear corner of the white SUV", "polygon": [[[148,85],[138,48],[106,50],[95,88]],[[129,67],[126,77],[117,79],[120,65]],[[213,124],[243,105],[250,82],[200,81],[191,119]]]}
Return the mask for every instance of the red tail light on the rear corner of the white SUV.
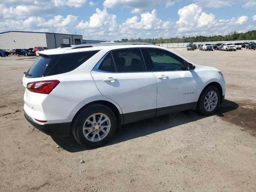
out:
{"label": "red tail light on the rear corner of the white SUV", "polygon": [[35,81],[27,84],[27,89],[35,93],[49,94],[60,81],[47,80],[47,81]]}

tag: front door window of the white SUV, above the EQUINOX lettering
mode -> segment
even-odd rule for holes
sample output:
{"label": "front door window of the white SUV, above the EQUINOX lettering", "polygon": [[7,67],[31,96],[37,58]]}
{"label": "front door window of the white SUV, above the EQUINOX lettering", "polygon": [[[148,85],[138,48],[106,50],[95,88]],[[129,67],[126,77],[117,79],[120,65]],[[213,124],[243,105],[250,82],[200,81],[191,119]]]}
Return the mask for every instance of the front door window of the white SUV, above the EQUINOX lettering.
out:
{"label": "front door window of the white SUV, above the EQUINOX lettering", "polygon": [[147,49],[154,71],[187,70],[184,60],[171,52],[160,49]]}

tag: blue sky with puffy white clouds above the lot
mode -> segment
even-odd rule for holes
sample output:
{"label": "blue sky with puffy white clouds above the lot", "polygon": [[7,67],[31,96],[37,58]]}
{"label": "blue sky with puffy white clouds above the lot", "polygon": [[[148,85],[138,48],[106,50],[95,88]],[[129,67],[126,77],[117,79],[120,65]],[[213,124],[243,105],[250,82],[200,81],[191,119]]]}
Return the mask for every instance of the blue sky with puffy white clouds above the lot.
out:
{"label": "blue sky with puffy white clouds above the lot", "polygon": [[86,40],[214,36],[256,30],[256,0],[6,0],[0,32],[83,35]]}

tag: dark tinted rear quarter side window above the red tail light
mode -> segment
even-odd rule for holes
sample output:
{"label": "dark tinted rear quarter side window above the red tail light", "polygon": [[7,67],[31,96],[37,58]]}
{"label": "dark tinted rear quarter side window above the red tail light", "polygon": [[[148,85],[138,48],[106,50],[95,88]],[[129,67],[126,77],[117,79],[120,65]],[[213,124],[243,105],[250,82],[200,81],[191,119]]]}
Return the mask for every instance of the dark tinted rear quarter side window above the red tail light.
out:
{"label": "dark tinted rear quarter side window above the red tail light", "polygon": [[70,72],[82,65],[98,51],[76,52],[63,54],[47,76]]}

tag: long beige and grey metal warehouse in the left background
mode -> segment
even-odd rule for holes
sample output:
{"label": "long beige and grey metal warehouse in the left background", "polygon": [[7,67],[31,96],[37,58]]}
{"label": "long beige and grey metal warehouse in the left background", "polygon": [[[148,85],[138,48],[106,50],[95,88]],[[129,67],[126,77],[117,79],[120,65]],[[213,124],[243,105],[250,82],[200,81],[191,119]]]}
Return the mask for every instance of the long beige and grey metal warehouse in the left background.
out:
{"label": "long beige and grey metal warehouse in the left background", "polygon": [[42,46],[53,49],[60,47],[60,44],[82,44],[82,37],[82,35],[61,33],[7,31],[0,33],[0,48],[19,49]]}

